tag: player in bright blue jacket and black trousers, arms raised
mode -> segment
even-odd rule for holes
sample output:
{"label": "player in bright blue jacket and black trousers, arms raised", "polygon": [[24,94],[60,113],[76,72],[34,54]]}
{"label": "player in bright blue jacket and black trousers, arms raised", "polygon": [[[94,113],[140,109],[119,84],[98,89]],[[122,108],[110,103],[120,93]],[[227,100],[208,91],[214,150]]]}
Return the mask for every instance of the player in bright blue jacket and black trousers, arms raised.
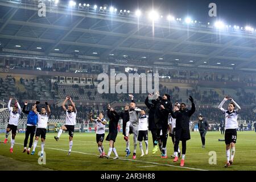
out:
{"label": "player in bright blue jacket and black trousers, arms raised", "polygon": [[[27,152],[27,154],[30,154],[30,148],[33,144],[33,138],[35,136],[35,130],[36,130],[36,123],[38,123],[38,115],[35,114],[35,110],[38,111],[39,107],[38,104],[40,104],[39,101],[36,101],[36,103],[32,106],[32,109],[30,111],[26,110],[27,102],[24,103],[22,112],[27,115],[27,127],[26,127],[26,134],[24,139],[24,152]],[[30,143],[28,144],[28,150],[27,150],[27,141],[28,137],[30,137]]]}

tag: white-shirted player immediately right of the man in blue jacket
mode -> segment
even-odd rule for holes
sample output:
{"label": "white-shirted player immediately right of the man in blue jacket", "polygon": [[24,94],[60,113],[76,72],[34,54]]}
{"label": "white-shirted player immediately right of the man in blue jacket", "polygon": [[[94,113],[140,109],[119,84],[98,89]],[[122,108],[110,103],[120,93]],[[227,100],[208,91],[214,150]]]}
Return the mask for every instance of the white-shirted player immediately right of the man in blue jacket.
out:
{"label": "white-shirted player immediately right of the man in blue jacket", "polygon": [[41,157],[44,155],[44,141],[46,140],[46,129],[47,129],[47,123],[49,114],[51,113],[51,109],[46,102],[46,107],[41,108],[41,112],[39,113],[37,110],[34,110],[35,114],[38,115],[38,127],[36,128],[36,134],[35,134],[35,141],[33,144],[33,150],[31,152],[31,155],[35,154],[35,148],[38,144],[39,137],[41,136]]}

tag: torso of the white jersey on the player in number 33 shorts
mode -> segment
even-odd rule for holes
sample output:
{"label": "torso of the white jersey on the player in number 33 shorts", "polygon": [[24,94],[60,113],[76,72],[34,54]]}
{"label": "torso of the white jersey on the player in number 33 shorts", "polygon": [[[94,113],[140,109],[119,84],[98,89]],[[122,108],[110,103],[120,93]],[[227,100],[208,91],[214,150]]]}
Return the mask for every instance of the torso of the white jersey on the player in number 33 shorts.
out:
{"label": "torso of the white jersey on the player in number 33 shorts", "polygon": [[236,110],[234,110],[232,113],[230,113],[228,110],[225,110],[225,130],[226,129],[237,129],[238,128],[238,122],[237,117],[238,113]]}

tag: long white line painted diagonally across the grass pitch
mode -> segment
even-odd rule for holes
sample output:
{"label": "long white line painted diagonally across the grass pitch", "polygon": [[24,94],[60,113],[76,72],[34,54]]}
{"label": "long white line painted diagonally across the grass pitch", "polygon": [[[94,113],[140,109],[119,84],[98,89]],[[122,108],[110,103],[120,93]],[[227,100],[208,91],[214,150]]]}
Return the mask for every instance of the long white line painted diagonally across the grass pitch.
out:
{"label": "long white line painted diagonally across the grass pitch", "polygon": [[[23,145],[22,143],[15,143],[15,144]],[[40,146],[38,146],[38,147],[40,147]],[[63,149],[59,149],[59,148],[49,148],[49,147],[44,147],[44,148],[68,152],[68,150],[63,150]],[[79,152],[79,151],[72,151],[72,153],[98,156],[97,154],[90,154],[90,153]],[[199,169],[199,168],[191,168],[191,167],[180,167],[180,166],[174,166],[174,165],[171,165],[171,164],[160,164],[160,163],[155,163],[155,162],[147,162],[147,161],[134,160],[134,159],[132,160],[132,159],[119,158],[119,160],[128,160],[128,161],[131,161],[131,162],[141,162],[141,163],[147,163],[147,164],[155,164],[155,165],[159,165],[159,166],[170,166],[170,167],[177,167],[177,168],[186,168],[186,169],[192,169],[192,170],[197,170],[197,171],[208,171],[207,169]]]}

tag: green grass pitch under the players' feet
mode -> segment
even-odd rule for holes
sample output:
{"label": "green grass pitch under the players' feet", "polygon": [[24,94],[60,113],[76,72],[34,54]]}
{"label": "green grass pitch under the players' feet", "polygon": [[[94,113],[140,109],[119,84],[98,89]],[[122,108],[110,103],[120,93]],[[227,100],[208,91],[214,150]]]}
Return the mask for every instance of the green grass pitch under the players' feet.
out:
{"label": "green grass pitch under the players' feet", "polygon": [[[172,162],[170,156],[173,153],[171,138],[167,140],[167,159],[160,158],[160,151],[152,154],[152,139],[149,132],[148,155],[140,157],[139,143],[137,146],[137,159],[132,159],[132,154],[125,157],[125,140],[121,133],[117,136],[115,148],[119,159],[98,158],[98,149],[95,133],[75,133],[71,156],[67,156],[69,148],[68,133],[61,135],[56,142],[53,136],[56,133],[46,135],[46,164],[38,164],[38,155],[27,155],[22,153],[24,134],[17,134],[15,139],[14,153],[9,152],[10,136],[7,144],[2,143],[4,135],[1,134],[0,143],[0,169],[1,170],[122,170],[122,171],[167,171],[167,170],[256,170],[256,133],[253,131],[238,131],[236,154],[234,163],[229,168],[224,168],[226,162],[225,142],[218,142],[224,135],[220,132],[208,132],[206,135],[205,148],[201,148],[200,134],[191,133],[191,140],[187,142],[187,154],[185,156],[185,167],[180,167],[180,159],[177,163]],[[106,134],[107,135],[107,134]],[[105,135],[105,137],[106,137]],[[133,136],[131,136],[132,139]],[[108,152],[109,143],[104,140],[105,152]],[[36,147],[35,154],[40,151],[40,141]],[[181,146],[181,143],[180,143]],[[144,147],[144,143],[143,143]],[[130,143],[133,152],[133,141]],[[145,149],[144,149],[145,150]],[[209,164],[210,151],[215,151],[217,164]],[[112,152],[111,157],[114,154]]]}

